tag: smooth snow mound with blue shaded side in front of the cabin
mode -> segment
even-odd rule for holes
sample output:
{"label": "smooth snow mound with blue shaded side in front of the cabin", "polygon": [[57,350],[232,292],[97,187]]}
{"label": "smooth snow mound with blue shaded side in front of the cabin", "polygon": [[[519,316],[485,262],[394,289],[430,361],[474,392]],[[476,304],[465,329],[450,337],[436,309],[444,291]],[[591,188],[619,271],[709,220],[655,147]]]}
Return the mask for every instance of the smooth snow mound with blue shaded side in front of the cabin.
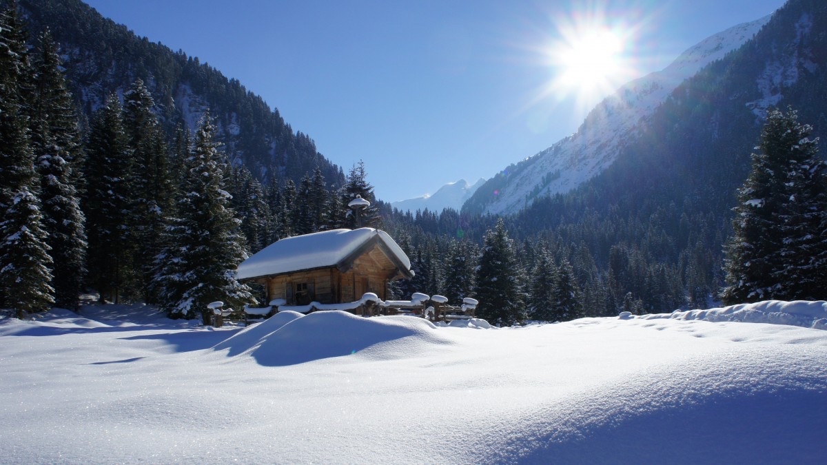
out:
{"label": "smooth snow mound with blue shaded side in front of the cabin", "polygon": [[452,343],[421,318],[364,318],[340,310],[281,314],[228,338],[216,350],[228,348],[228,356],[239,354],[265,367],[284,367],[357,353],[397,358],[423,352],[430,345]]}

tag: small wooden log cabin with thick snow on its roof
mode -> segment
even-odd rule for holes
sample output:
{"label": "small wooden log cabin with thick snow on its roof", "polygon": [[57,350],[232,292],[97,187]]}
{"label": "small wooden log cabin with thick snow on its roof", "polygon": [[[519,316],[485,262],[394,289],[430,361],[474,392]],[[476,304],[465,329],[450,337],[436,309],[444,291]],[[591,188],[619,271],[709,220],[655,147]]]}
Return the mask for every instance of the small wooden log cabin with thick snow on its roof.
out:
{"label": "small wooden log cabin with thick snow on its roof", "polygon": [[241,262],[237,280],[265,287],[266,302],[342,304],[373,292],[387,298],[388,282],[414,271],[399,245],[373,228],[334,229],[287,237]]}

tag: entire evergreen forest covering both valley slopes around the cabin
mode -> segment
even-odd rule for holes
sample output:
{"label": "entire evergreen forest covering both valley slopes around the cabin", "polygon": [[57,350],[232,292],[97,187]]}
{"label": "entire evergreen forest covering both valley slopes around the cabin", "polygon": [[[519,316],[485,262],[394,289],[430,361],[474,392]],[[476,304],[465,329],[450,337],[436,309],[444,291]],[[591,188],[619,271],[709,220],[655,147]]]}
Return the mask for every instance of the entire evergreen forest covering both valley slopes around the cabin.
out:
{"label": "entire evergreen forest covering both valley slopes around the cabin", "polygon": [[[32,11],[67,14],[74,3],[44,5]],[[83,24],[99,21],[82,13],[74,12]],[[815,137],[823,114],[771,108],[714,140],[690,126],[743,119],[715,92],[700,107],[692,96],[722,74],[741,75],[749,60],[740,55],[684,84],[614,165],[569,194],[505,217],[409,213],[376,199],[361,161],[345,175],[237,81],[182,52],[129,41],[120,27],[109,25],[122,41],[95,49],[103,61],[84,79],[103,82],[95,73],[107,57],[129,56],[135,44],[159,62],[134,60],[100,102],[82,100],[72,89],[84,81],[61,65],[55,34],[37,27],[30,36],[17,2],[2,8],[0,308],[20,317],[76,309],[90,290],[174,318],[195,318],[213,300],[254,304],[258,290],[234,278],[246,256],[282,237],[360,226],[385,229],[411,259],[416,276],[394,282],[394,296],[472,296],[495,324],[827,299],[827,192]],[[166,102],[177,91],[161,71],[204,86],[210,97],[197,123]],[[126,90],[117,92],[118,79],[130,79]],[[214,95],[227,90],[244,98]],[[227,132],[232,115],[240,137]],[[280,164],[268,158],[273,146]],[[756,148],[750,155],[744,146]],[[370,202],[361,218],[347,209],[356,195]]]}

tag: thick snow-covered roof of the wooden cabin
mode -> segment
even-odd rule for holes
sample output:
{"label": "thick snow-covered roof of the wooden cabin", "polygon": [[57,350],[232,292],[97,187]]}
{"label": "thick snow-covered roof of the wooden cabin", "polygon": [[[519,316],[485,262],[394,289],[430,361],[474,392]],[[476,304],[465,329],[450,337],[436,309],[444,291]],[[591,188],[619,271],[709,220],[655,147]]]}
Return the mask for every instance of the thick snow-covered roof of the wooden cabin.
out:
{"label": "thick snow-covered roof of the wooden cabin", "polygon": [[392,255],[391,260],[395,259],[404,266],[405,271],[410,271],[408,256],[387,232],[374,228],[333,229],[273,242],[242,261],[237,268],[236,278],[245,280],[337,266],[374,237],[385,245]]}

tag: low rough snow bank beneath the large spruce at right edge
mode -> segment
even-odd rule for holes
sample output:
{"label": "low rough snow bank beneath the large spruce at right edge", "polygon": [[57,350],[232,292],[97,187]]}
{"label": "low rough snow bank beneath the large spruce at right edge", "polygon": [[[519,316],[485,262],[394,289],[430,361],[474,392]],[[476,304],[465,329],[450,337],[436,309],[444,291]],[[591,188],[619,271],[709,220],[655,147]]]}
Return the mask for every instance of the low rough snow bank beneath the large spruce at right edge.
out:
{"label": "low rough snow bank beneath the large spruce at right edge", "polygon": [[683,319],[712,322],[786,324],[802,328],[827,329],[827,302],[823,300],[765,300],[754,304],[737,304],[705,310],[675,311],[672,314],[648,314],[641,319]]}

